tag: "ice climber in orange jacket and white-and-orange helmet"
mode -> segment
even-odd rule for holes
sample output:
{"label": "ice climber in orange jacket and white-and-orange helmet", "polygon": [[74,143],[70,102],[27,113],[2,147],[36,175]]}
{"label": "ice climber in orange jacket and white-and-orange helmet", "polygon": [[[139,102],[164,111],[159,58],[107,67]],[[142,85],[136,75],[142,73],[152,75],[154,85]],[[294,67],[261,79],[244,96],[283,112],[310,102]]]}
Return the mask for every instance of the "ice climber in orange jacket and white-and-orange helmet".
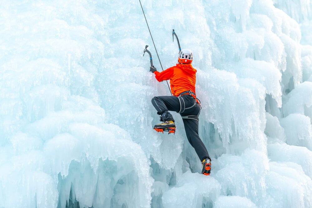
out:
{"label": "ice climber in orange jacket and white-and-orange helmet", "polygon": [[157,132],[168,131],[175,133],[176,126],[169,111],[176,111],[182,116],[186,136],[189,143],[195,149],[199,159],[202,161],[202,174],[210,175],[211,159],[205,145],[198,135],[198,116],[200,114],[200,102],[196,98],[195,83],[196,69],[191,65],[193,61],[192,51],[183,49],[178,56],[178,63],[158,72],[154,65],[150,72],[154,73],[159,82],[170,80],[170,88],[173,96],[157,96],[152,99],[152,104],[160,116],[160,123],[154,126]]}

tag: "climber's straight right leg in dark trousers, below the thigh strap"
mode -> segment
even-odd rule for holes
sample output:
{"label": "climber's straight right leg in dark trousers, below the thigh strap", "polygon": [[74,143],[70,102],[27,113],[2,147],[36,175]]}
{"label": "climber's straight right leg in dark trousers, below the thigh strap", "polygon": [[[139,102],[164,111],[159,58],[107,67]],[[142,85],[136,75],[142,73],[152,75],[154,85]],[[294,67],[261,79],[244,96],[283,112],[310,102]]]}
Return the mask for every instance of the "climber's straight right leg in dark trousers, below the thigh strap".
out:
{"label": "climber's straight right leg in dark trousers, below the thigh strap", "polygon": [[195,149],[195,152],[197,153],[199,159],[201,161],[203,161],[205,158],[211,160],[204,143],[199,138],[198,121],[194,119],[183,119],[183,123],[188,141]]}

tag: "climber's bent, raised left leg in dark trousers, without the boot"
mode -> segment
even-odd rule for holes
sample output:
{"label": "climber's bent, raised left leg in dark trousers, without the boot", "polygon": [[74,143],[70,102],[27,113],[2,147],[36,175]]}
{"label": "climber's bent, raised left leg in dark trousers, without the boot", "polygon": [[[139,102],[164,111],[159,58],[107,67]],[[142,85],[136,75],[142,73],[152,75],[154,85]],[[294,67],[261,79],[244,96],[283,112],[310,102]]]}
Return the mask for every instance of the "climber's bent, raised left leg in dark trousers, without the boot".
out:
{"label": "climber's bent, raised left leg in dark trousers, without the boot", "polygon": [[168,112],[180,111],[180,102],[176,96],[157,96],[152,99],[152,104],[157,110],[157,114],[161,115],[162,121],[174,121],[173,116]]}

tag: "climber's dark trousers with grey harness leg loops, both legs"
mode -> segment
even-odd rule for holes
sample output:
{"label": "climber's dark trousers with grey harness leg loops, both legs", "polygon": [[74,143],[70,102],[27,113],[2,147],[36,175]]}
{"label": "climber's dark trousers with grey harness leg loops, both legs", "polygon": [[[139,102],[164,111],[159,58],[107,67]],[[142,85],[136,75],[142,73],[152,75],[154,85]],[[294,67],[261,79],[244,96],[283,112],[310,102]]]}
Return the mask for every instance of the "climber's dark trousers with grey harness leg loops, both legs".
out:
{"label": "climber's dark trousers with grey harness leg loops, both legs", "polygon": [[[200,105],[189,94],[182,95],[180,98],[176,96],[157,96],[152,99],[152,104],[157,110],[157,114],[161,115],[161,121],[174,121],[173,116],[168,111],[181,112],[185,133],[188,142],[195,149],[199,159],[203,161],[209,158],[207,149],[198,135],[198,115],[200,113]],[[182,108],[182,109],[181,109]],[[194,116],[186,118],[187,116]],[[184,117],[184,118],[183,118]]]}

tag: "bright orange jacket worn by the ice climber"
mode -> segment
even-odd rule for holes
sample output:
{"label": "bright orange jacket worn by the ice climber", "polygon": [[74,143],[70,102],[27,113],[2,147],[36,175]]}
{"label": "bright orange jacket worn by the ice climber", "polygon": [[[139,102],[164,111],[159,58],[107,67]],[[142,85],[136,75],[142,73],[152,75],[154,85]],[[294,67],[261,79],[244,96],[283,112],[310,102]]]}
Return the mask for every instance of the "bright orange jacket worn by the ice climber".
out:
{"label": "bright orange jacket worn by the ice climber", "polygon": [[[179,96],[181,93],[191,90],[195,92],[196,69],[191,64],[177,64],[162,72],[155,71],[156,79],[159,82],[170,79],[171,93]],[[194,95],[192,95],[196,98]]]}

